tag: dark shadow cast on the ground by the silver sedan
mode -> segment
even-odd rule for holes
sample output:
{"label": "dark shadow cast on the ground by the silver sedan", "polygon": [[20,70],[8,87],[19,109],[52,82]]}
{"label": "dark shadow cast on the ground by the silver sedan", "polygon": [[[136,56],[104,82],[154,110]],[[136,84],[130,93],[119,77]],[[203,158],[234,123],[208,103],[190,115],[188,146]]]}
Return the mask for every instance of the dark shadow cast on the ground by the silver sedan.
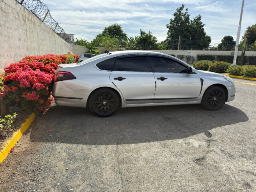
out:
{"label": "dark shadow cast on the ground by the silver sedan", "polygon": [[[85,108],[53,106],[31,125],[33,142],[84,145],[135,144],[175,140],[248,121],[238,108],[224,104],[207,111],[199,105],[123,108],[99,118]],[[230,127],[232,129],[232,127]],[[50,130],[48,132],[48,130]]]}

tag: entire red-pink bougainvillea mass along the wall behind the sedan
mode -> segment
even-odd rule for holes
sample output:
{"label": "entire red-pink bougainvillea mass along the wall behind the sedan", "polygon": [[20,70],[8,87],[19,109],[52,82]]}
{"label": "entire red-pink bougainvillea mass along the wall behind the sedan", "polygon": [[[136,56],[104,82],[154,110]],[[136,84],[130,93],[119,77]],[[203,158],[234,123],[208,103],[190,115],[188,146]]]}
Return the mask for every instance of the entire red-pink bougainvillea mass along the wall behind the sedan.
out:
{"label": "entire red-pink bougainvillea mass along the wall behind the sedan", "polygon": [[[78,55],[73,55],[78,61]],[[58,64],[67,63],[68,56],[26,56],[12,63],[5,70],[4,89],[0,97],[8,106],[18,106],[29,112],[44,112],[50,106],[54,74]]]}

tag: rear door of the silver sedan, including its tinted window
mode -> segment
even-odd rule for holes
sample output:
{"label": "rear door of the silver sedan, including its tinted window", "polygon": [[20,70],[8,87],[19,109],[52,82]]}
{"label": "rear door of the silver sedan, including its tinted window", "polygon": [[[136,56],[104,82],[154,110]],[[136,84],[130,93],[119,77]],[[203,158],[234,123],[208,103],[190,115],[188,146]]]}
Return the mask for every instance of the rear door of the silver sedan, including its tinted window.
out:
{"label": "rear door of the silver sedan, including its tinted window", "polygon": [[155,79],[145,54],[117,57],[110,81],[120,90],[127,104],[154,101]]}

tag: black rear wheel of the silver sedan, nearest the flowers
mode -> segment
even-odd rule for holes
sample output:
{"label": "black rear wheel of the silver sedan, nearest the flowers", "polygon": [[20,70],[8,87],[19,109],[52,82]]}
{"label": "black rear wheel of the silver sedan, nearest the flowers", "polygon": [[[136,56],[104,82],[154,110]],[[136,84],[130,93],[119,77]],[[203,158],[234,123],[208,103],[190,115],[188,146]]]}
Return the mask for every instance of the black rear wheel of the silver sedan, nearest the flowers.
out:
{"label": "black rear wheel of the silver sedan, nearest the flowers", "polygon": [[98,89],[89,98],[89,108],[96,116],[109,117],[118,110],[119,97],[111,89]]}

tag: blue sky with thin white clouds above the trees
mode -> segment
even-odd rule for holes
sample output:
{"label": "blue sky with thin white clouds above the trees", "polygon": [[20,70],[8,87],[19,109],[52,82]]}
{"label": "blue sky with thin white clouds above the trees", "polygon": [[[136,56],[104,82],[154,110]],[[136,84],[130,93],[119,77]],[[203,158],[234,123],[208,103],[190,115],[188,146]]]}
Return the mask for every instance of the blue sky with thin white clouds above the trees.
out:
{"label": "blue sky with thin white clouds above the trees", "polygon": [[[75,38],[91,41],[112,24],[120,24],[128,37],[140,29],[152,32],[161,42],[167,37],[166,24],[178,7],[188,7],[190,19],[202,15],[206,34],[217,46],[231,35],[236,40],[242,0],[41,0],[52,17]],[[240,40],[246,28],[256,24],[256,2],[245,0]]]}

